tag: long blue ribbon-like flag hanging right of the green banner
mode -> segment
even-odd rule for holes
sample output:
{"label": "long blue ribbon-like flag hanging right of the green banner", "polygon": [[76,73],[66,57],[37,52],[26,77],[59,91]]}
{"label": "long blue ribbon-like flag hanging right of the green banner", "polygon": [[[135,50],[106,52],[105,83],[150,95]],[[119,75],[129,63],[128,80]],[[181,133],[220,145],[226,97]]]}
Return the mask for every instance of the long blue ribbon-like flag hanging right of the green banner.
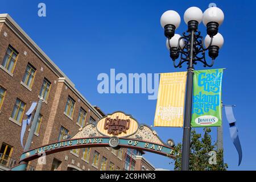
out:
{"label": "long blue ribbon-like flag hanging right of the green banner", "polygon": [[236,118],[234,118],[234,114],[233,114],[234,106],[235,105],[224,105],[226,118],[228,119],[228,122],[229,122],[230,137],[233,140],[234,146],[237,149],[238,156],[239,156],[238,166],[240,166],[242,162],[242,147],[241,147],[240,139],[238,137],[238,129],[236,126],[237,121],[236,121]]}

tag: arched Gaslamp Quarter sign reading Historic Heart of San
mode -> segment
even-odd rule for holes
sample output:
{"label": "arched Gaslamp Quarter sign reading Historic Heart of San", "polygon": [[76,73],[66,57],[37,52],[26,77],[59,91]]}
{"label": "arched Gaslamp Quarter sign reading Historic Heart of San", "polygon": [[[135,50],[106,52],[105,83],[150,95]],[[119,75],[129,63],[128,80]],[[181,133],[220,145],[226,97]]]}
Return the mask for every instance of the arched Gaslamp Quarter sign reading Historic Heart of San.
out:
{"label": "arched Gaslamp Quarter sign reading Historic Heart of San", "polygon": [[147,125],[139,123],[121,111],[108,114],[98,122],[89,123],[71,139],[47,144],[24,152],[19,163],[29,162],[40,156],[60,151],[86,147],[134,148],[153,152],[169,158],[174,156],[174,142],[162,142],[156,132]]}

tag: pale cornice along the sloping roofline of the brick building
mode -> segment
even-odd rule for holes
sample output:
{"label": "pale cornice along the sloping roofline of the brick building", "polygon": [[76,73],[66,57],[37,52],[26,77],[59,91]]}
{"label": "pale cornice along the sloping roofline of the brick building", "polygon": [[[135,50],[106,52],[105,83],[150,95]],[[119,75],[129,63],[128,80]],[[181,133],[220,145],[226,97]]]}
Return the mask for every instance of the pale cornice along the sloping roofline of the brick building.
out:
{"label": "pale cornice along the sloping roofline of the brick building", "polygon": [[59,78],[65,78],[64,82],[83,101],[90,110],[101,118],[101,114],[86,100],[75,88],[75,84],[61,71],[59,67],[46,55],[46,53],[26,34],[26,32],[14,21],[9,14],[0,14],[0,23],[5,23],[13,32],[51,69]]}

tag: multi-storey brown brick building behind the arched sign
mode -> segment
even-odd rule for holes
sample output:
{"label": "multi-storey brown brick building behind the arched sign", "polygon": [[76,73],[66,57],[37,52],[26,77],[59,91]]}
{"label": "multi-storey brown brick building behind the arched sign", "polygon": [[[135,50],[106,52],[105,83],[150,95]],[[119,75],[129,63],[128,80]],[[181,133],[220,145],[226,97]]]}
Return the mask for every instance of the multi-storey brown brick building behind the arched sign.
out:
{"label": "multi-storey brown brick building behind the arched sign", "polygon": [[[0,169],[18,164],[22,119],[40,96],[44,102],[31,148],[63,140],[105,116],[8,14],[0,14]],[[45,165],[32,160],[28,169],[154,170],[143,154],[127,148],[80,148],[47,155]]]}

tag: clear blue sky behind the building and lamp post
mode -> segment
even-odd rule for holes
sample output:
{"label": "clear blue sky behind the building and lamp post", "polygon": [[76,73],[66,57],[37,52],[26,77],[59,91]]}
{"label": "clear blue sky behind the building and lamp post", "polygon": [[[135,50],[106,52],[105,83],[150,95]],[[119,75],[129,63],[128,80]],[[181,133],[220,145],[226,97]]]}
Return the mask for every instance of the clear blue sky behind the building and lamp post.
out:
{"label": "clear blue sky behind the building and lamp post", "polygon": [[[47,16],[38,16],[38,3],[47,6]],[[224,160],[229,170],[256,169],[255,94],[255,1],[7,1],[2,0],[0,13],[8,13],[44,52],[75,83],[92,105],[105,113],[116,110],[132,114],[140,123],[153,125],[156,100],[147,94],[99,94],[99,73],[161,73],[185,71],[174,68],[160,26],[166,10],[181,16],[177,33],[186,30],[183,14],[188,7],[207,9],[214,2],[225,14],[219,32],[225,43],[213,68],[226,68],[222,85],[224,104],[235,104],[234,114],[243,149],[238,154],[229,136],[224,116]],[[203,36],[206,28],[199,25]],[[196,69],[203,69],[196,65]],[[154,128],[160,138],[181,142],[180,128]],[[197,129],[201,131],[201,129]],[[213,139],[216,140],[216,128]],[[167,158],[147,153],[157,168],[173,169]]]}

